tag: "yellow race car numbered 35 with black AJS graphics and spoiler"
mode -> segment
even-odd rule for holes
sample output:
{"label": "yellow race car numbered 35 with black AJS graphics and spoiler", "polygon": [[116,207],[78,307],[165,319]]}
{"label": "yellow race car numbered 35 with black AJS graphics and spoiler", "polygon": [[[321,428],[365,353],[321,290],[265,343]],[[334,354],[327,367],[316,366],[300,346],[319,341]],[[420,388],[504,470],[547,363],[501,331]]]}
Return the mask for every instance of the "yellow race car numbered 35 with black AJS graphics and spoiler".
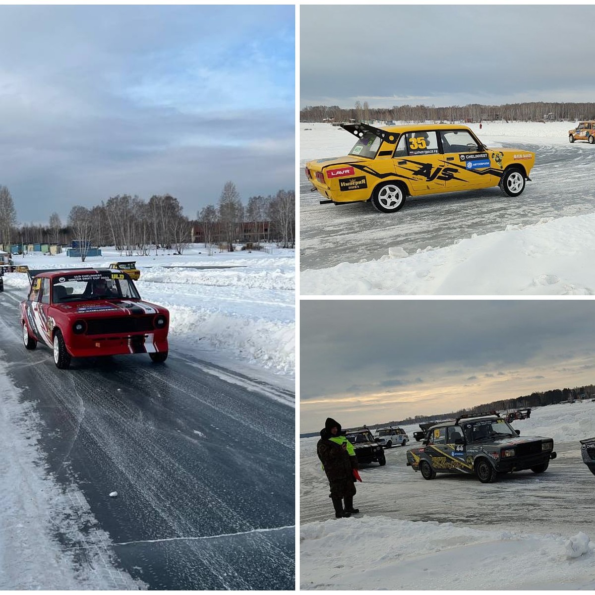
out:
{"label": "yellow race car numbered 35 with black AJS graphics and spoiler", "polygon": [[306,164],[321,204],[371,201],[399,211],[407,196],[500,186],[518,196],[535,163],[524,149],[488,149],[466,126],[411,124],[376,128],[343,124],[358,137],[349,155]]}

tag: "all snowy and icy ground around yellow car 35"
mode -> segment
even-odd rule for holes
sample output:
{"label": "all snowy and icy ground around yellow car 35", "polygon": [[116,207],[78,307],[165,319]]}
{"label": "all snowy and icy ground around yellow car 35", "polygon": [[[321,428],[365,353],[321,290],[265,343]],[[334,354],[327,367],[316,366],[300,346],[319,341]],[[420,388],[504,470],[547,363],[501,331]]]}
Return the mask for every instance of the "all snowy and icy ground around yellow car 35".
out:
{"label": "all snowy and icy ground around yellow car 35", "polygon": [[[486,123],[488,146],[536,152],[518,198],[495,188],[409,197],[392,215],[369,203],[319,205],[300,171],[302,295],[592,295],[595,148],[574,123]],[[344,155],[350,135],[300,124],[300,159]],[[305,130],[311,128],[311,130]]]}

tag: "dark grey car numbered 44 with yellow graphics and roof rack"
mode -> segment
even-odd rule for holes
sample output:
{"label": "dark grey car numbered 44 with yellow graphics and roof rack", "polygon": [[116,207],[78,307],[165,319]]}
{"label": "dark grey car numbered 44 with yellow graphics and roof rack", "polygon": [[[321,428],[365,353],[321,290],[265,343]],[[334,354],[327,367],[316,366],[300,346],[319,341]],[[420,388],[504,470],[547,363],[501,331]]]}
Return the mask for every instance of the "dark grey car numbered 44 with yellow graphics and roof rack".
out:
{"label": "dark grey car numbered 44 with yellow graphics and roof rack", "polygon": [[463,415],[433,425],[423,446],[407,451],[407,465],[426,480],[437,473],[475,473],[481,483],[492,483],[499,473],[543,473],[556,458],[553,439],[519,433],[495,411]]}

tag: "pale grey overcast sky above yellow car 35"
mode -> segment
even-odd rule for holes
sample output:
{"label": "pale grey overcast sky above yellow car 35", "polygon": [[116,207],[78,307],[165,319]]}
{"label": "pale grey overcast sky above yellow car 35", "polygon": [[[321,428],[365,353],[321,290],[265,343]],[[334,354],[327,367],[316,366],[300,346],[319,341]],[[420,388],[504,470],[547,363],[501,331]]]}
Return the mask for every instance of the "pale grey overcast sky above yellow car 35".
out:
{"label": "pale grey overcast sky above yellow car 35", "polygon": [[302,6],[300,105],[593,101],[579,32],[594,20],[587,5]]}

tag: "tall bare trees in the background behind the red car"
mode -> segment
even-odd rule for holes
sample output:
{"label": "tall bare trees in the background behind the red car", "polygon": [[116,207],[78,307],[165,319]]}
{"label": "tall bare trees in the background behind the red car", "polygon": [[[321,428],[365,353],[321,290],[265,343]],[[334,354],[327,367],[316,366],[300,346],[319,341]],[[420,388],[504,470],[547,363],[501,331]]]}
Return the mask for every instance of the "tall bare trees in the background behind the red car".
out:
{"label": "tall bare trees in the background behind the red car", "polygon": [[[201,209],[199,223],[205,227],[208,241],[228,243],[230,249],[241,239],[248,226],[258,240],[295,245],[295,192],[279,190],[275,196],[252,196],[244,207],[233,182],[226,182],[217,208]],[[245,220],[248,217],[248,220]],[[183,214],[177,198],[169,194],[151,196],[143,201],[138,196],[111,196],[101,204],[87,208],[75,205],[66,224],[52,213],[49,225],[24,224],[17,227],[16,211],[10,191],[0,186],[0,243],[55,243],[71,240],[82,242],[82,258],[86,246],[115,246],[126,256],[147,255],[152,247],[173,249],[183,253],[191,242],[192,221]],[[221,232],[224,231],[222,238]]]}

